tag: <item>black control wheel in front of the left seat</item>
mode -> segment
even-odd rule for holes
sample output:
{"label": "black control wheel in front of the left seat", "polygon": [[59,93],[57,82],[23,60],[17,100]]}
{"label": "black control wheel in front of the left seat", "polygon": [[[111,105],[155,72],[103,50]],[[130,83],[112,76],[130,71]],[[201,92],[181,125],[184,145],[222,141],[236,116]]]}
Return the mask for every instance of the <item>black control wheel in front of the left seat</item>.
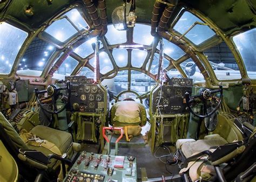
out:
{"label": "black control wheel in front of the left seat", "polygon": [[[68,94],[68,97],[65,96],[66,94],[65,95],[61,94],[60,90],[66,90],[66,94]],[[41,91],[38,91],[38,89],[35,88],[35,93],[36,93],[37,102],[39,103],[39,105],[43,110],[51,114],[58,114],[66,108],[66,106],[68,105],[68,102],[70,101],[71,85],[70,85],[70,82],[67,81],[65,87],[58,87],[57,85],[49,85],[46,90],[41,90]],[[47,93],[48,96],[51,96],[52,110],[45,108],[44,104],[39,99],[39,95],[45,94],[45,93]],[[62,95],[61,98],[59,98],[60,95]],[[61,99],[63,102],[65,102],[65,105],[61,109],[57,108],[57,104],[56,104],[57,99]]]}

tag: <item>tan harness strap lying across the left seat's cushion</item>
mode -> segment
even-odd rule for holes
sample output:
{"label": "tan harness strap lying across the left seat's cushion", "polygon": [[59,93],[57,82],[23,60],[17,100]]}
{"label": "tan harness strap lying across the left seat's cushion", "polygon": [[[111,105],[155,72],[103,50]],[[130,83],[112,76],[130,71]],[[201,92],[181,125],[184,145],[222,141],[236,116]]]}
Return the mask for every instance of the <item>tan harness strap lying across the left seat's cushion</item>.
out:
{"label": "tan harness strap lying across the left seat's cushion", "polygon": [[50,150],[52,153],[55,153],[56,155],[62,156],[62,152],[60,152],[59,148],[49,142],[46,141],[46,139],[41,139],[39,137],[36,137],[36,135],[33,135],[31,132],[27,132],[26,130],[22,130],[19,136],[22,138],[23,142],[26,145],[32,145],[32,146],[42,146],[45,149]]}

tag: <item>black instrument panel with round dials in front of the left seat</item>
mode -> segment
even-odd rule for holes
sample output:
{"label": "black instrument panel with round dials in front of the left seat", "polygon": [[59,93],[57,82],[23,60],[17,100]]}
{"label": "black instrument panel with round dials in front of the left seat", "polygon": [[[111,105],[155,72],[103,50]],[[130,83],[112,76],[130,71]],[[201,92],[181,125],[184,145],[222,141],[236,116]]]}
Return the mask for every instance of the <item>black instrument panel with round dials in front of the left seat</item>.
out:
{"label": "black instrument panel with round dials in front of the left seat", "polygon": [[72,83],[71,110],[85,112],[104,111],[106,90],[96,85],[93,79],[87,79],[85,76],[66,76],[65,80]]}

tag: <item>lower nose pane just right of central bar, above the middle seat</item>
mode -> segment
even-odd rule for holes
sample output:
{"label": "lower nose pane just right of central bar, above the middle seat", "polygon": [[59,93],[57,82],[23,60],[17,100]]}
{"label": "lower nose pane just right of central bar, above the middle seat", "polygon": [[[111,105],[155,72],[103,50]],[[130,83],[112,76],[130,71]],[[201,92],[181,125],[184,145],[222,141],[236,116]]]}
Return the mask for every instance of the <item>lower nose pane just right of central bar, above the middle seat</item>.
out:
{"label": "lower nose pane just right of central bar, above the middle seat", "polygon": [[131,90],[136,91],[139,95],[151,90],[154,85],[156,85],[156,81],[150,76],[142,72],[131,71]]}

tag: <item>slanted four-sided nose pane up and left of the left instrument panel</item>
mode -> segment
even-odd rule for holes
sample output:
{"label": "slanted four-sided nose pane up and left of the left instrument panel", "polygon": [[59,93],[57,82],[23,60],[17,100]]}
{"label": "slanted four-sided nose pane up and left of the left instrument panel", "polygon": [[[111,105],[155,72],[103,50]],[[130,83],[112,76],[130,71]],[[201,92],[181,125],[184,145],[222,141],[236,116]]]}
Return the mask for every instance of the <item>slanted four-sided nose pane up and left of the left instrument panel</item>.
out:
{"label": "slanted four-sided nose pane up and left of the left instrument panel", "polygon": [[60,65],[59,69],[55,73],[69,76],[77,65],[78,61],[69,56],[64,60],[62,65]]}

